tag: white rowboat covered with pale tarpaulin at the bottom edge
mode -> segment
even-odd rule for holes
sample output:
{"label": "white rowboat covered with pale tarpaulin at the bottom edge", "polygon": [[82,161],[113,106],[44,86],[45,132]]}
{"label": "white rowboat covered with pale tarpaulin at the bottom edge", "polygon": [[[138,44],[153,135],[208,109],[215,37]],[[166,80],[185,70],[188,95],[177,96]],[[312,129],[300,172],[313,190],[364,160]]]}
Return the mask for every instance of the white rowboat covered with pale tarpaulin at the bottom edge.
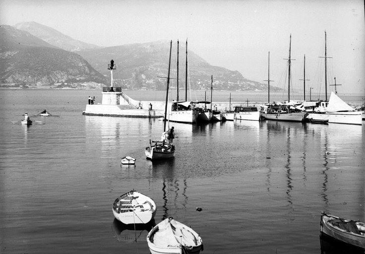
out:
{"label": "white rowboat covered with pale tarpaulin at the bottom edge", "polygon": [[203,251],[201,237],[191,228],[169,217],[147,235],[151,254],[198,254]]}

